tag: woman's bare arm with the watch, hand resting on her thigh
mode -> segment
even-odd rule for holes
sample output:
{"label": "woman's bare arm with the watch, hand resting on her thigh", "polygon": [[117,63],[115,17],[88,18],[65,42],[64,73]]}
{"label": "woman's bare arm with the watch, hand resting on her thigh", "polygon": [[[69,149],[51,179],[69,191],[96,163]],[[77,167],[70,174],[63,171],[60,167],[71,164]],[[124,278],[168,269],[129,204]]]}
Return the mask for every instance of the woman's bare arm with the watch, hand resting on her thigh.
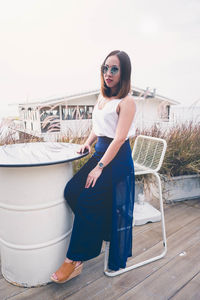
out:
{"label": "woman's bare arm with the watch, hand resting on her thigh", "polygon": [[[135,116],[136,106],[132,96],[126,97],[119,104],[119,119],[117,123],[117,129],[115,138],[110,143],[100,162],[104,166],[107,166],[113,158],[116,156],[122,144],[125,142],[128,131],[131,127]],[[88,175],[85,187],[88,188],[92,184],[95,185],[98,177],[101,175],[102,169],[97,165]]]}

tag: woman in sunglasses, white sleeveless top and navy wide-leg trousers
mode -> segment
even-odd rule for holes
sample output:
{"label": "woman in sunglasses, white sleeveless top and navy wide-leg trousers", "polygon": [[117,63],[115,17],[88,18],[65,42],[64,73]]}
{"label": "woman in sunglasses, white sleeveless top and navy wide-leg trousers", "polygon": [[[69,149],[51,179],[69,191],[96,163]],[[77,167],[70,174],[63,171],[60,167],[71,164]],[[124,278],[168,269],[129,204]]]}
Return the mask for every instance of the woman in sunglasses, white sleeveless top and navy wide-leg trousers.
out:
{"label": "woman in sunglasses, white sleeveless top and navy wide-leg trousers", "polygon": [[129,137],[136,111],[130,94],[131,62],[113,51],[101,67],[101,94],[93,111],[92,131],[80,153],[95,153],[67,183],[65,199],[75,214],[66,259],[51,279],[63,283],[80,274],[83,261],[98,256],[110,241],[108,267],[126,267],[132,255],[134,167]]}

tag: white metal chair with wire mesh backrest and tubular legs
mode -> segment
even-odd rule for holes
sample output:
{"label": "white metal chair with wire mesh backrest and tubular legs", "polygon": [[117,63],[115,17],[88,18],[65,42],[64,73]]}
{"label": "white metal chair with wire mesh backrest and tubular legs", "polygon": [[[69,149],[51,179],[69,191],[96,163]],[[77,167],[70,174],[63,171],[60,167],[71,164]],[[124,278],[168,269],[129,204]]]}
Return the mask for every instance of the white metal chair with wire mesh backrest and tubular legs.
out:
{"label": "white metal chair with wire mesh backrest and tubular legs", "polygon": [[158,183],[161,224],[162,224],[163,251],[158,256],[154,256],[140,263],[133,264],[124,269],[120,269],[119,271],[110,272],[108,271],[108,253],[109,253],[110,243],[106,242],[104,273],[107,276],[116,276],[124,272],[133,270],[140,266],[156,261],[164,257],[165,254],[167,253],[167,241],[166,241],[165,220],[164,220],[163,199],[162,199],[162,186],[161,186],[160,176],[158,174],[158,171],[160,170],[163,163],[166,148],[167,148],[167,143],[163,139],[139,135],[135,140],[133,151],[132,151],[132,156],[133,156],[133,161],[135,166],[135,176],[152,174],[155,176]]}

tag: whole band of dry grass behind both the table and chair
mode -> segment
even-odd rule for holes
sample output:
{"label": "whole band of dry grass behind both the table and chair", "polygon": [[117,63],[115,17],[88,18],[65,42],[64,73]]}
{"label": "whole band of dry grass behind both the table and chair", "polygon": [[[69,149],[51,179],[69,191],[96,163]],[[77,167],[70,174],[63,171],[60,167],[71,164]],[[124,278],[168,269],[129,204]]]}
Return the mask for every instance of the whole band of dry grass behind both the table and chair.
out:
{"label": "whole band of dry grass behind both the table and chair", "polygon": [[[7,135],[2,135],[3,128],[5,125],[10,128]],[[24,143],[24,142],[40,142],[42,139],[36,138],[32,135],[21,135],[21,138],[16,139],[14,133],[14,126],[11,126],[11,121],[4,121],[0,124],[0,145],[13,144],[13,143]],[[200,173],[200,124],[189,125],[176,125],[169,127],[163,131],[156,125],[150,129],[136,131],[136,136],[139,134],[164,138],[167,142],[167,151],[163,161],[161,174],[174,177],[178,175],[192,175]],[[57,140],[58,142],[68,142],[83,144],[87,137],[77,138],[69,137],[62,134]],[[131,147],[133,148],[135,137],[130,139]],[[91,157],[94,152],[92,151],[86,157],[74,161],[74,171],[77,172]]]}

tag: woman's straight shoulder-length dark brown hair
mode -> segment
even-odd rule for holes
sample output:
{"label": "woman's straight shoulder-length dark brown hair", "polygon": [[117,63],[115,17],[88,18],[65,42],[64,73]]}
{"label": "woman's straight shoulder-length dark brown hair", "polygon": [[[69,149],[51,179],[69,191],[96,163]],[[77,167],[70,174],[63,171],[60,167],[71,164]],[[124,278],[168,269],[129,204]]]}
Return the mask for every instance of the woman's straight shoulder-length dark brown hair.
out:
{"label": "woman's straight shoulder-length dark brown hair", "polygon": [[103,77],[103,66],[109,56],[116,55],[120,61],[120,81],[118,83],[117,93],[114,95],[119,99],[122,99],[128,95],[131,90],[131,61],[124,51],[115,50],[106,56],[103,64],[101,65],[101,93],[104,97],[111,97],[111,89],[106,85]]}

